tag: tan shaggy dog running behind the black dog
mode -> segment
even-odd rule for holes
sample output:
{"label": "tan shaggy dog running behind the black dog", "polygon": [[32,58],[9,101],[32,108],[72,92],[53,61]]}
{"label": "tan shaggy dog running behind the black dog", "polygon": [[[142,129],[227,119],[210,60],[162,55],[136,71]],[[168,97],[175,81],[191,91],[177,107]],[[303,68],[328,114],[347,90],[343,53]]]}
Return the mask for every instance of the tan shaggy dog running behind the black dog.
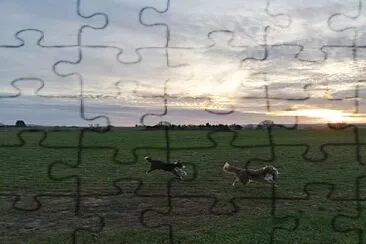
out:
{"label": "tan shaggy dog running behind the black dog", "polygon": [[247,185],[253,181],[274,184],[277,186],[279,172],[271,165],[266,165],[259,169],[242,169],[231,166],[229,163],[225,162],[223,170],[226,173],[233,174],[235,176],[232,184],[233,186],[238,182],[241,182],[243,185]]}

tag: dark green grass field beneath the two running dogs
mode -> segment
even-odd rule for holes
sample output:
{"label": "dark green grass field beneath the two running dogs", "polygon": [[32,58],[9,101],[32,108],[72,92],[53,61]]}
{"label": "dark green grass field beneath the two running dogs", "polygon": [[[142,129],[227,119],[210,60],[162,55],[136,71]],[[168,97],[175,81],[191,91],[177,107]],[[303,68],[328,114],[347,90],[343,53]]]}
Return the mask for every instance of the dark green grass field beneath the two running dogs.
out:
{"label": "dark green grass field beneath the two running dogs", "polygon": [[[80,139],[77,129],[2,128],[0,243],[72,243],[76,228],[101,227],[98,219],[84,219],[94,215],[104,218],[103,229],[78,231],[77,243],[169,243],[169,225],[174,243],[359,243],[357,229],[365,236],[365,216],[336,218],[357,217],[356,194],[366,196],[365,147],[356,150],[354,131],[276,129],[274,147],[266,130],[237,133],[169,131],[167,149],[163,130],[114,128]],[[361,140],[364,135],[360,130]],[[145,155],[181,160],[187,179],[171,181],[168,189],[172,175],[146,175]],[[273,164],[279,187],[232,187],[233,177],[222,171],[225,161]],[[144,226],[146,209],[161,214],[145,212]]]}

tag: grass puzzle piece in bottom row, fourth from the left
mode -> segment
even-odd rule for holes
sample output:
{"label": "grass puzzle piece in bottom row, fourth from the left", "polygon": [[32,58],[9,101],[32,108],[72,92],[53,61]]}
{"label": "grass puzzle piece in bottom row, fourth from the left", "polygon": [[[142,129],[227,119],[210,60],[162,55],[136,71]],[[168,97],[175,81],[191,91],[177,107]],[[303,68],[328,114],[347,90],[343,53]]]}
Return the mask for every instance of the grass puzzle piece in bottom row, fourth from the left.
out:
{"label": "grass puzzle piece in bottom row, fourth from the left", "polygon": [[349,242],[349,237],[332,230],[332,219],[337,213],[350,212],[354,205],[350,201],[336,200],[332,193],[335,185],[325,182],[307,183],[304,186],[306,196],[303,199],[276,198],[276,212],[281,215],[298,216],[299,223],[295,230],[278,230],[275,243],[288,241],[306,243]]}

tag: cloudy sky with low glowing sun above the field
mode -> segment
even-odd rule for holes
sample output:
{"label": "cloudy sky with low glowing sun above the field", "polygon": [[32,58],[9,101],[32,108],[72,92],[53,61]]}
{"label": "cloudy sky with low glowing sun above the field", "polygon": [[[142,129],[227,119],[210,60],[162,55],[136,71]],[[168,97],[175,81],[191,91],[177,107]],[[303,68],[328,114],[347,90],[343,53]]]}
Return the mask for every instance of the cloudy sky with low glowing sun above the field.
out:
{"label": "cloudy sky with low glowing sun above the field", "polygon": [[356,0],[3,0],[0,122],[366,122],[365,18]]}

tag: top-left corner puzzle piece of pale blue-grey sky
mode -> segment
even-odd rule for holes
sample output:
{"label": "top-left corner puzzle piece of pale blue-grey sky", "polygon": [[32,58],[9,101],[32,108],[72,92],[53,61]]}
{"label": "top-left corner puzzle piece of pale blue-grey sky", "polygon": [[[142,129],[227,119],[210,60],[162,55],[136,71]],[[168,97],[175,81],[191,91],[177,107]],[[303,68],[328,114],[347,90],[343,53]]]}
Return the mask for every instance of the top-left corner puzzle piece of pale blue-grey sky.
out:
{"label": "top-left corner puzzle piece of pale blue-grey sky", "polygon": [[44,37],[39,40],[41,45],[72,46],[77,45],[77,33],[81,26],[88,24],[90,28],[103,28],[107,24],[105,14],[83,14],[80,0],[65,0],[62,3],[47,0],[1,1],[0,9],[0,45],[21,45],[15,40],[15,33],[24,30],[43,32]]}

